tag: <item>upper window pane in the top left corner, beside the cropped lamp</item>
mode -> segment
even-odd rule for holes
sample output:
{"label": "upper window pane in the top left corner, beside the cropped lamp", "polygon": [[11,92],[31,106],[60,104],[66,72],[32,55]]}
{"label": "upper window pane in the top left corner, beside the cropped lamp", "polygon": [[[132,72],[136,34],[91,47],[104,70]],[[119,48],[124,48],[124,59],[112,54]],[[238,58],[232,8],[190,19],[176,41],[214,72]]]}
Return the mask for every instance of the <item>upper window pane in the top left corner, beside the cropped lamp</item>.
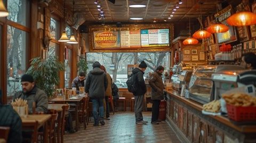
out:
{"label": "upper window pane in the top left corner, beside the cropped lamp", "polygon": [[28,0],[8,0],[7,9],[9,11],[7,19],[29,27],[30,6]]}

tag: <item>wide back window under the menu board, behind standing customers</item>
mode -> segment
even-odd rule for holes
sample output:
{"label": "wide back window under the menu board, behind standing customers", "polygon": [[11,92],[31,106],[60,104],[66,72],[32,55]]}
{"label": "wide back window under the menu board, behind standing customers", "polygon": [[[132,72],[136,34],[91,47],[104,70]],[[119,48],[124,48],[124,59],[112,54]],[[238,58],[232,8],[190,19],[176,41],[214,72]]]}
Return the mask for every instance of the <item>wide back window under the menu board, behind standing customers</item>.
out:
{"label": "wide back window under the menu board, behind standing customers", "polygon": [[[167,58],[166,58],[167,57]],[[169,52],[151,52],[151,53],[87,53],[87,62],[89,69],[92,70],[92,64],[95,61],[105,66],[107,72],[111,75],[113,81],[119,88],[127,88],[127,65],[145,61],[148,65],[144,77],[149,72],[154,72],[157,66],[162,65],[166,70],[170,67]]]}

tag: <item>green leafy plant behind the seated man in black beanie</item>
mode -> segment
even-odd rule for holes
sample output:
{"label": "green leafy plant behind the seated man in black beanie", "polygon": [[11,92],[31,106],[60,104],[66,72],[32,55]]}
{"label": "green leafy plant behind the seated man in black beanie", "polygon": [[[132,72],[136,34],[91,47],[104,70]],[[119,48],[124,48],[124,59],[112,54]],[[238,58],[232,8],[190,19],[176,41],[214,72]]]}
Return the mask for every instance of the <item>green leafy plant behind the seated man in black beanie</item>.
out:
{"label": "green leafy plant behind the seated man in black beanie", "polygon": [[64,70],[64,64],[59,62],[56,56],[49,56],[46,59],[35,57],[31,60],[27,74],[32,75],[36,86],[51,97],[55,91],[55,85],[59,85],[60,82],[59,72]]}

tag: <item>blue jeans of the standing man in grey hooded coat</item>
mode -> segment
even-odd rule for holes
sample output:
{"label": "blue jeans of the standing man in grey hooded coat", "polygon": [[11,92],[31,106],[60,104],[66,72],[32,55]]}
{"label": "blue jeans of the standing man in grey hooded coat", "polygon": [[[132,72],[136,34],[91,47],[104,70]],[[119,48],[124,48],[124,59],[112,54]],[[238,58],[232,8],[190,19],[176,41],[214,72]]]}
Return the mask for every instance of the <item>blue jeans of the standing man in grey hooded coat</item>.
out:
{"label": "blue jeans of the standing man in grey hooded coat", "polygon": [[[99,113],[98,113],[99,109]],[[104,108],[103,99],[92,99],[92,114],[94,118],[94,123],[99,124],[99,120],[104,119]]]}

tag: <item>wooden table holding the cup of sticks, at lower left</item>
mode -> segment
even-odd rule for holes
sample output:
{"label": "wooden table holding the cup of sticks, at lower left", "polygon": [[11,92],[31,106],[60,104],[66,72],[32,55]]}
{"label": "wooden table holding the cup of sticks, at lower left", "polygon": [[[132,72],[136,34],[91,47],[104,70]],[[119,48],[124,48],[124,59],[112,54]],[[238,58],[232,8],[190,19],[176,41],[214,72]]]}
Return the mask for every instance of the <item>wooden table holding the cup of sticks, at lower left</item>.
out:
{"label": "wooden table holding the cup of sticks, at lower left", "polygon": [[38,122],[38,129],[40,127],[44,126],[44,142],[48,142],[48,125],[47,125],[47,121],[49,121],[49,119],[51,118],[50,114],[42,114],[42,115],[28,115],[27,117],[21,117],[21,121],[22,121],[22,128],[23,127],[27,127],[27,125],[31,124],[31,123],[36,123],[36,121]]}

